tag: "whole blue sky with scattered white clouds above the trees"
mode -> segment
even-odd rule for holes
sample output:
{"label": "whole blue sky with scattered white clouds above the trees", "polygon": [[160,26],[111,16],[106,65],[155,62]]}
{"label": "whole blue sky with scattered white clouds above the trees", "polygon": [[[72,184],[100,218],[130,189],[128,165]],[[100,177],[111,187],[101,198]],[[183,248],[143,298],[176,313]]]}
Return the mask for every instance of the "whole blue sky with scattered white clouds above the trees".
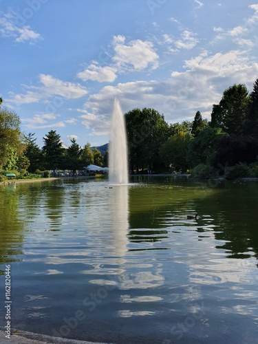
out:
{"label": "whole blue sky with scattered white clouds above the trees", "polygon": [[210,118],[258,78],[255,0],[0,0],[0,96],[21,129],[109,140],[114,98],[167,122]]}

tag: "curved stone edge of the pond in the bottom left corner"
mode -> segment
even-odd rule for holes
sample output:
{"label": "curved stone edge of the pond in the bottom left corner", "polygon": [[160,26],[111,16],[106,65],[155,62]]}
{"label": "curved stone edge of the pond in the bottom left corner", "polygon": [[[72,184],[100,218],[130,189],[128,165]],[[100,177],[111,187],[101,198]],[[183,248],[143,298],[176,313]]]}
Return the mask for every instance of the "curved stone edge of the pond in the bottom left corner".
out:
{"label": "curved stone edge of the pond in the bottom left corner", "polygon": [[6,338],[6,333],[0,331],[1,344],[112,344],[89,341],[77,341],[76,339],[58,338],[47,336],[45,334],[36,334],[33,332],[19,331]]}

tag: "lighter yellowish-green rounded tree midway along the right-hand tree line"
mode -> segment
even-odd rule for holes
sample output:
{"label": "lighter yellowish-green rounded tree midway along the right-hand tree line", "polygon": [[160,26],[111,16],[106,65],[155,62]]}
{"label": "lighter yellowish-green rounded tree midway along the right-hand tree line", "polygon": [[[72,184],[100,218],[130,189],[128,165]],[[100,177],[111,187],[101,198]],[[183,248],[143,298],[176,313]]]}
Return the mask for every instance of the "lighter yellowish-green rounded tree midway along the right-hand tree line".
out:
{"label": "lighter yellowish-green rounded tree midway along the right-hand tree line", "polygon": [[180,169],[186,171],[189,168],[186,155],[191,139],[192,135],[190,133],[181,131],[171,136],[169,140],[162,144],[160,147],[160,156],[164,164],[177,171]]}

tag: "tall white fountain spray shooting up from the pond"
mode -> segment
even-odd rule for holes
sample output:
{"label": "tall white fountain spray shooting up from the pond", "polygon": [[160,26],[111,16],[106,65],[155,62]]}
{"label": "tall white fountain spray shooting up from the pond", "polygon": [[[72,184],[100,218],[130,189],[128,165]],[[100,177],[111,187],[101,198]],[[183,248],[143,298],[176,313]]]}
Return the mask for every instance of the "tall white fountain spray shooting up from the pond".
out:
{"label": "tall white fountain spray shooting up from the pond", "polygon": [[128,184],[127,133],[120,104],[114,100],[109,140],[109,182]]}

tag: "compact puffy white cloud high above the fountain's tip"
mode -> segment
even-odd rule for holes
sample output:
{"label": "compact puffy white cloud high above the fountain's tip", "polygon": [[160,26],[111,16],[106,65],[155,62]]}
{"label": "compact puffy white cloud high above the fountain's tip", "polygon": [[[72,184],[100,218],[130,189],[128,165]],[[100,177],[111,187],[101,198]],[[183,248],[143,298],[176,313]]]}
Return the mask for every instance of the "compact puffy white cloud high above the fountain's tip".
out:
{"label": "compact puffy white cloud high above the fountain's tip", "polygon": [[142,70],[149,66],[152,69],[158,67],[158,54],[153,50],[153,44],[149,41],[136,39],[125,45],[124,36],[114,36],[113,44],[115,56],[112,58],[118,67],[133,66],[136,70]]}

